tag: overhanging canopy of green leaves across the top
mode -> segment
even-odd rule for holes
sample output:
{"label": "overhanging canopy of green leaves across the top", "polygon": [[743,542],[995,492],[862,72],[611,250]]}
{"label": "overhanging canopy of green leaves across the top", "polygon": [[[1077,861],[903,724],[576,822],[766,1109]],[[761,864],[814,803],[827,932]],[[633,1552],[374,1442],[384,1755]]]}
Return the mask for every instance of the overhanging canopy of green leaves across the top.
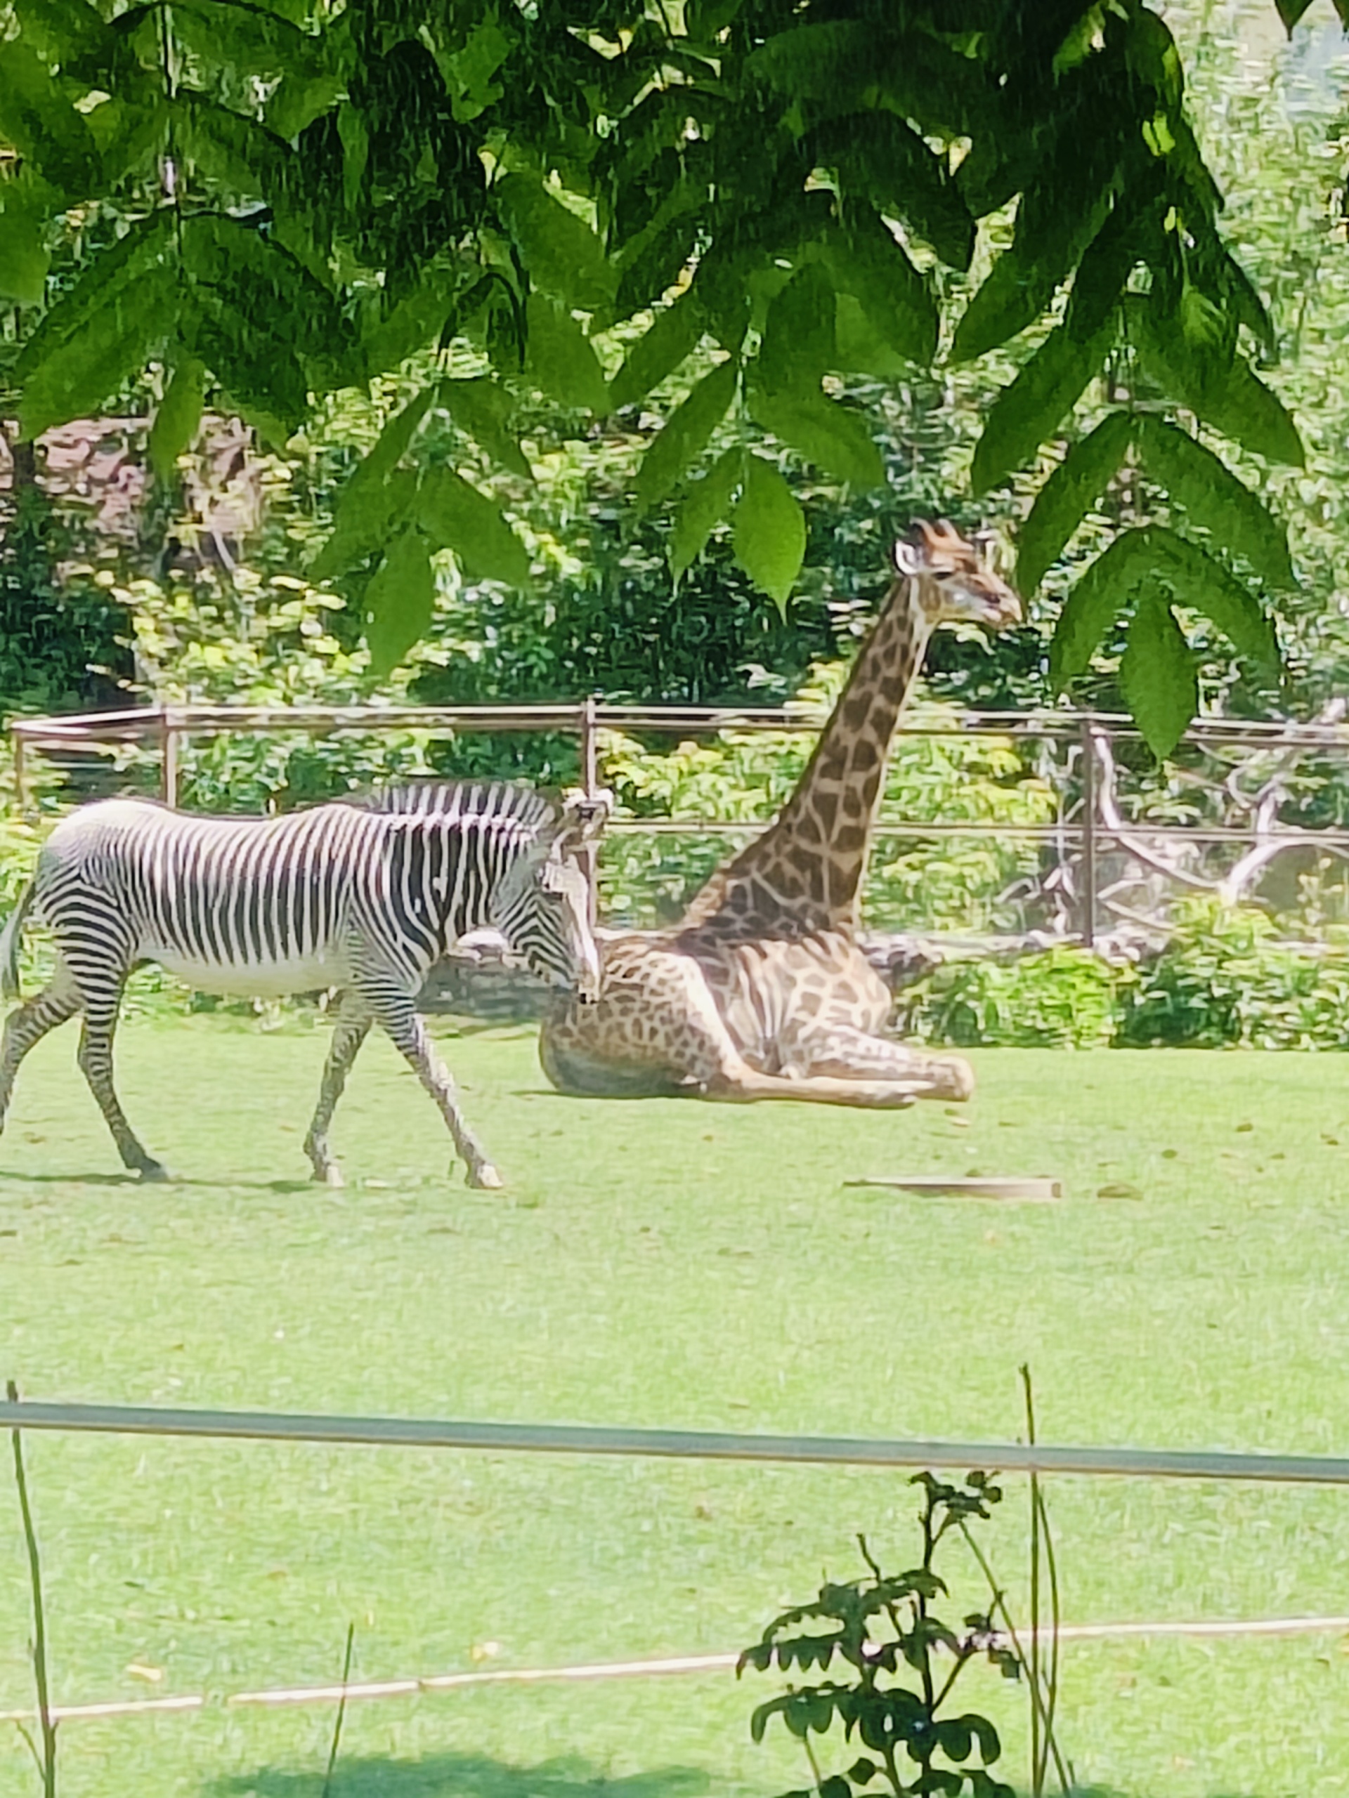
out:
{"label": "overhanging canopy of green leaves across the top", "polygon": [[[1173,602],[1239,615],[1239,653],[1264,647],[1259,588],[1293,574],[1221,446],[1293,466],[1302,448],[1250,365],[1270,320],[1219,232],[1180,58],[1144,0],[119,7],[0,5],[18,25],[0,43],[0,137],[16,151],[0,286],[29,307],[13,369],[23,435],[153,365],[153,462],[171,469],[205,396],[284,442],[326,396],[464,342],[480,378],[426,405],[525,480],[516,414],[531,396],[583,432],[674,381],[691,390],[651,441],[635,505],[671,507],[676,575],[730,521],[784,606],[806,529],[779,464],[885,485],[836,378],[928,363],[982,221],[1014,203],[950,345],[962,361],[1031,333],[989,408],[975,491],[1072,437],[1099,376],[1124,396],[1043,484],[1023,584],[1131,464],[1176,502],[1184,548],[1144,530],[1088,570],[1086,636],[1131,613],[1126,685],[1167,694],[1140,716],[1158,753],[1193,690]],[[1281,11],[1291,27],[1302,7]],[[90,219],[97,248],[54,279],[52,252]],[[493,498],[453,469],[401,466],[424,410],[356,471],[320,565],[374,565],[385,662],[428,617],[437,552],[480,577],[529,575]],[[1065,613],[1059,674],[1081,665],[1085,606],[1072,629]]]}

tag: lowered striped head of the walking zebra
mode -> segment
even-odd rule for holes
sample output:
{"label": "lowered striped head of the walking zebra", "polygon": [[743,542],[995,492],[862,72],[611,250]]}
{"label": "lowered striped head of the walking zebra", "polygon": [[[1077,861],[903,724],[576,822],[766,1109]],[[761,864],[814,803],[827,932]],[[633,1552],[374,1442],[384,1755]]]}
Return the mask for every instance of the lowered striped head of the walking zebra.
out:
{"label": "lowered striped head of the walking zebra", "polygon": [[514,955],[549,985],[576,991],[583,1005],[599,998],[599,949],[577,850],[595,840],[606,811],[603,800],[568,795],[556,829],[525,849],[489,901],[489,922]]}

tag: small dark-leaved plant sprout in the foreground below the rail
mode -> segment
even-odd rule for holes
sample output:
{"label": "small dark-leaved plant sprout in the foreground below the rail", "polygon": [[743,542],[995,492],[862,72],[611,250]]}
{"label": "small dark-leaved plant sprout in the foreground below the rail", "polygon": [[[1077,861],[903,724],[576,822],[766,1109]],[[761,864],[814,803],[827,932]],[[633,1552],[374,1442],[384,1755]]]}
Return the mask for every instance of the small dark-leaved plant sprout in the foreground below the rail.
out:
{"label": "small dark-leaved plant sprout in the foreground below the rail", "polygon": [[[768,1672],[793,1667],[802,1674],[818,1669],[851,1670],[849,1678],[829,1678],[817,1685],[793,1685],[781,1697],[759,1705],[750,1721],[754,1740],[763,1740],[772,1717],[781,1717],[799,1737],[815,1775],[820,1798],[853,1798],[876,1782],[894,1794],[943,1793],[959,1798],[1013,1798],[1011,1785],[989,1773],[1000,1757],[998,1731],[975,1712],[957,1712],[955,1685],[973,1660],[987,1660],[1004,1679],[1022,1676],[1020,1656],[993,1627],[989,1616],[966,1616],[951,1629],[934,1611],[946,1598],[946,1586],[934,1571],[937,1546],[950,1530],[964,1530],[989,1516],[1000,1503],[1002,1489],[993,1474],[971,1473],[964,1485],[948,1485],[932,1473],[916,1474],[923,1489],[919,1527],[923,1557],[907,1573],[883,1573],[872,1559],[865,1537],[858,1537],[869,1577],[844,1586],[826,1584],[815,1604],[784,1611],[773,1618],[752,1649],[737,1663]],[[806,1625],[799,1634],[793,1631]],[[822,1625],[822,1627],[811,1627]],[[865,1755],[844,1773],[820,1776],[809,1740],[826,1735],[838,1721],[844,1740],[858,1744]],[[971,1766],[971,1757],[977,1757]],[[809,1798],[791,1793],[788,1798]]]}

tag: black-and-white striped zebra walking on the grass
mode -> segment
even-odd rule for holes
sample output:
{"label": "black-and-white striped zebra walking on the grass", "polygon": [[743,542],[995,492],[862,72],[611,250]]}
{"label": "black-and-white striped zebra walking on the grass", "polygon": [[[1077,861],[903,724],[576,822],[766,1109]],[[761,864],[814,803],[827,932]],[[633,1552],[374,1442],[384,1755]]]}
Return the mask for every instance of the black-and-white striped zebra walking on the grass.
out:
{"label": "black-and-white striped zebra walking on the grass", "polygon": [[417,992],[460,935],[489,926],[550,985],[594,998],[599,953],[577,854],[604,809],[604,795],[558,806],[507,782],[415,782],[279,818],[200,816],[142,798],[79,807],[43,843],[0,935],[0,992],[18,1000],[25,921],[56,939],[56,973],[5,1021],[0,1131],[27,1052],[83,1012],[79,1066],[122,1163],[142,1179],[171,1178],[126,1120],[112,1057],[126,976],[158,962],[203,992],[338,989],[304,1138],[315,1179],[344,1183],[327,1131],[378,1023],[439,1106],[468,1183],[500,1187],[417,1016]]}

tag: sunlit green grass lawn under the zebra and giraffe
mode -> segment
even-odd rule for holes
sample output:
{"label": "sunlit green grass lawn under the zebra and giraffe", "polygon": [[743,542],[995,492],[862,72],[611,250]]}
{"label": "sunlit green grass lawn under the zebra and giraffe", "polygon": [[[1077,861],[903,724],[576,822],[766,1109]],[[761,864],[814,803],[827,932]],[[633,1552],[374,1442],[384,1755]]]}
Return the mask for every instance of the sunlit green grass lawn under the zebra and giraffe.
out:
{"label": "sunlit green grass lawn under the zebra and giraffe", "polygon": [[[448,1176],[430,1100],[371,1043],[351,1185],[306,1183],[326,1037],[219,1019],[121,1037],[173,1187],[122,1181],[74,1068],[27,1063],[0,1144],[0,1379],[29,1397],[831,1435],[1014,1437],[1029,1361],[1058,1442],[1349,1453],[1349,1063],[977,1055],[969,1108],[554,1097],[529,1032],[448,1041],[509,1181]],[[847,1188],[1054,1174],[1061,1205]],[[1133,1197],[1101,1197],[1133,1188]],[[743,1647],[865,1530],[912,1552],[899,1474],[29,1437],[59,1701],[225,1694]],[[1059,1480],[1072,1622],[1349,1613],[1349,1494]],[[0,1710],[31,1697],[0,1476]],[[1022,1579],[1022,1494],[986,1532]],[[953,1611],[980,1602],[953,1552]],[[128,1667],[158,1669],[147,1683]],[[775,1688],[730,1676],[351,1706],[335,1798],[777,1793]],[[969,1676],[1022,1766],[1014,1688]],[[1349,1793],[1336,1638],[1068,1652],[1063,1746],[1128,1794]],[[320,1710],[70,1724],[63,1798],[317,1798]],[[827,1744],[826,1744],[827,1753]],[[0,1731],[0,1793],[36,1793]]]}

